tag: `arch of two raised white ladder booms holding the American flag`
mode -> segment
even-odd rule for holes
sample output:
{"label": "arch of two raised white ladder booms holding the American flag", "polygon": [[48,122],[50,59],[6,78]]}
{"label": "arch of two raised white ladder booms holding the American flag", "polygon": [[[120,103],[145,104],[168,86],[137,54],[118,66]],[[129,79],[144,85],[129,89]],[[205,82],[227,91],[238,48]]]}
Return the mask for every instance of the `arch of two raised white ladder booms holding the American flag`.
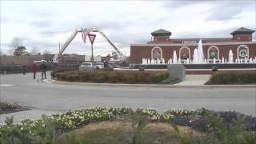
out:
{"label": "arch of two raised white ladder booms holding the American flag", "polygon": [[[118,52],[118,57],[122,60],[122,61],[125,61],[126,60],[126,57],[124,54],[121,53],[120,50],[118,50],[118,48],[116,46],[114,46],[114,43],[110,41],[109,38],[106,37],[106,34],[104,34],[102,31],[99,31],[98,29],[96,29],[95,27],[94,28],[91,28],[90,31],[92,32],[98,32],[99,34],[101,34],[103,36],[103,38],[106,39],[107,42],[110,43],[110,46],[112,46],[114,48],[114,50],[116,50]],[[70,42],[72,42],[72,40],[74,39],[74,37],[78,34],[78,32],[82,32],[82,27],[79,27],[78,29],[76,29],[74,31],[73,34],[71,34],[70,38],[68,38],[66,40],[66,42],[64,43],[64,45],[60,48],[58,54],[55,54],[54,55],[54,58],[53,58],[53,62],[59,62],[59,59],[61,58],[62,56],[62,53],[64,52],[64,50],[66,50],[67,46],[70,45]]]}

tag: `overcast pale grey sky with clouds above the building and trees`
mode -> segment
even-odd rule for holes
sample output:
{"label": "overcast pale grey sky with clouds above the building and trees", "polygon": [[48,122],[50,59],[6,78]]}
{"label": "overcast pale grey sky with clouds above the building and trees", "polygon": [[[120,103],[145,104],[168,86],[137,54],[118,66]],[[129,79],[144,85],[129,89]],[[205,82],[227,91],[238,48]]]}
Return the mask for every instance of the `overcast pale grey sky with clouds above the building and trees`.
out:
{"label": "overcast pale grey sky with clouds above the building and trees", "polygon": [[[12,38],[22,38],[30,51],[58,52],[77,27],[97,26],[123,54],[131,43],[150,41],[150,33],[165,29],[171,38],[231,38],[239,27],[255,30],[255,0],[238,1],[1,1],[1,50],[8,54]],[[254,34],[255,39],[255,34]],[[94,54],[110,54],[113,48],[101,35]],[[90,42],[78,34],[68,54],[90,54]]]}

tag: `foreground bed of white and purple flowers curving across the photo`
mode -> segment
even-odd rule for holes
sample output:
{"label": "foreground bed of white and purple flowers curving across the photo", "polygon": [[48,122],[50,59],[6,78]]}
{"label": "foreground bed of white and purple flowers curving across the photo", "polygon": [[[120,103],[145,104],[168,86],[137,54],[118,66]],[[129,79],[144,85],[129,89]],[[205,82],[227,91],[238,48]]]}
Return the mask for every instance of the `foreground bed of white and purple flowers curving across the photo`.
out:
{"label": "foreground bed of white and purple flowers curving across the photo", "polygon": [[[37,143],[40,138],[46,141],[54,139],[58,130],[74,130],[91,122],[112,121],[118,116],[136,113],[146,116],[150,122],[174,122],[180,126],[190,126],[196,130],[207,130],[210,121],[202,114],[201,110],[171,109],[160,114],[154,109],[131,110],[127,107],[95,107],[84,110],[70,110],[65,114],[42,116],[39,120],[26,119],[18,124],[13,124],[8,118],[5,125],[0,125],[0,142],[10,142],[17,139],[19,142]],[[256,118],[236,112],[211,112],[211,117],[221,118],[220,126],[229,128],[242,116],[243,129],[256,130]],[[57,132],[55,132],[57,130]],[[39,140],[38,140],[39,138]],[[41,141],[40,141],[41,142]]]}

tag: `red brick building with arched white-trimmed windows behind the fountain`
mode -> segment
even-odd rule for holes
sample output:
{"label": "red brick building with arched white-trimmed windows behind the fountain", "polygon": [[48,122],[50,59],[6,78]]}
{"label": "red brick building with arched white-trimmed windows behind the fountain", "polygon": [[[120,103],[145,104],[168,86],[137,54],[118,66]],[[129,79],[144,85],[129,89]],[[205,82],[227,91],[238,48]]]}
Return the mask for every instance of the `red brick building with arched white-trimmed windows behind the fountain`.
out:
{"label": "red brick building with arched white-trimmed windows behind the fountain", "polygon": [[[205,59],[209,62],[220,62],[222,58],[229,59],[229,51],[233,51],[235,59],[249,59],[256,56],[256,42],[252,42],[254,30],[244,27],[230,33],[232,38],[202,38],[202,48]],[[200,38],[170,38],[171,32],[157,30],[151,33],[152,38],[146,44],[130,44],[130,63],[140,64],[142,58],[159,58],[168,60],[173,58],[174,50],[177,57],[184,62],[193,59],[194,49],[198,47]]]}

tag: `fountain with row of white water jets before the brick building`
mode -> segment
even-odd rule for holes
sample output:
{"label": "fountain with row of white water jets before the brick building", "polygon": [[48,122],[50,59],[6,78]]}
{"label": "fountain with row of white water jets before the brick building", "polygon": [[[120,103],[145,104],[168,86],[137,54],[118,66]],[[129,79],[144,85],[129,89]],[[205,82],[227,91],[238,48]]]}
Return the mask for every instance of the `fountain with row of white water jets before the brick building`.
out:
{"label": "fountain with row of white water jets before the brick building", "polygon": [[[232,50],[229,50],[229,58],[204,58],[203,50],[202,50],[202,39],[198,42],[198,47],[194,49],[193,58],[178,58],[176,50],[173,52],[173,58],[170,58],[165,60],[165,58],[162,59],[150,59],[150,58],[142,58],[142,65],[151,65],[150,68],[154,68],[154,65],[162,65],[161,68],[164,68],[166,64],[186,64],[186,67],[188,69],[198,69],[198,67],[203,69],[210,69],[212,64],[214,66],[218,66],[220,69],[230,69],[230,68],[251,68],[252,66],[255,66],[256,64],[256,57],[255,58],[234,58],[234,53]],[[233,64],[231,66],[231,64]],[[197,65],[197,66],[193,66]],[[159,67],[159,66],[158,66]],[[199,68],[199,69],[200,69]]]}

